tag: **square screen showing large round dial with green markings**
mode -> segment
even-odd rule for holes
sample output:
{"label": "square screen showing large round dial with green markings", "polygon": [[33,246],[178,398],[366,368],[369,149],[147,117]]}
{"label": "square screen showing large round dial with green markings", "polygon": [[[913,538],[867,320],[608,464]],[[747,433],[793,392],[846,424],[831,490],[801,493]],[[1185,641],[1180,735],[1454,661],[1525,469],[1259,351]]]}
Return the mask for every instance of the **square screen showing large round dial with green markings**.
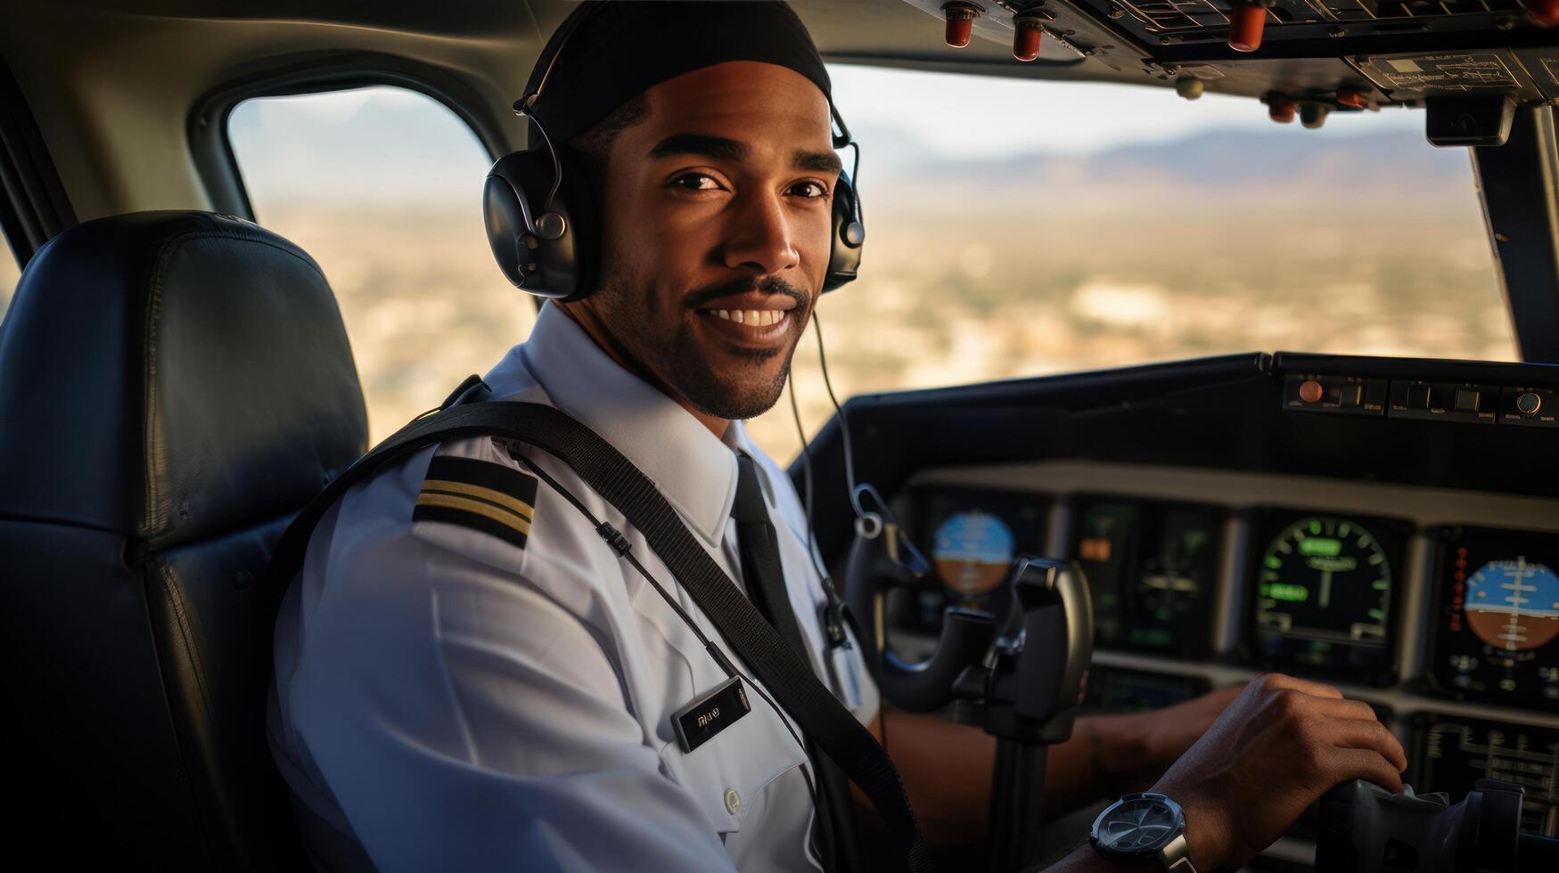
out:
{"label": "square screen showing large round dial with green markings", "polygon": [[1392,642],[1409,525],[1266,510],[1255,518],[1247,652],[1258,666],[1395,681]]}

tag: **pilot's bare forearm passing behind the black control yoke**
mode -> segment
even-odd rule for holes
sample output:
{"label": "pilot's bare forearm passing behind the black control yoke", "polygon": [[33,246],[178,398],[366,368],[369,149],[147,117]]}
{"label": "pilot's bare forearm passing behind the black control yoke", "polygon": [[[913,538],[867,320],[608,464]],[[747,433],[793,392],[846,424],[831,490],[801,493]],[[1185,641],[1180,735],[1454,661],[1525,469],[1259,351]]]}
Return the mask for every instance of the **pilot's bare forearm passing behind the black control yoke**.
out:
{"label": "pilot's bare forearm passing behind the black control yoke", "polygon": [[[1045,775],[1046,817],[1152,783],[1137,716],[1077,719],[1069,740],[1052,747]],[[892,711],[889,755],[898,765],[915,817],[931,843],[985,836],[996,740],[940,716]],[[876,733],[876,725],[873,725]],[[881,737],[879,737],[881,739]]]}

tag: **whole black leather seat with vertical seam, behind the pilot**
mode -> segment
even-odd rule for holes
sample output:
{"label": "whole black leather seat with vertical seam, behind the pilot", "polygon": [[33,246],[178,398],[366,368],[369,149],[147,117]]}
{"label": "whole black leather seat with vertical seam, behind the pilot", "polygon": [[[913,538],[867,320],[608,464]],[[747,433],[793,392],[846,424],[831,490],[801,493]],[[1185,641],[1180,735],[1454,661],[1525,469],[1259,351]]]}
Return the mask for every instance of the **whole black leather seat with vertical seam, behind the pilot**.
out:
{"label": "whole black leather seat with vertical seam, behind the pilot", "polygon": [[12,851],[307,868],[265,747],[265,566],[365,447],[341,316],[298,246],[143,212],[39,249],[0,324]]}

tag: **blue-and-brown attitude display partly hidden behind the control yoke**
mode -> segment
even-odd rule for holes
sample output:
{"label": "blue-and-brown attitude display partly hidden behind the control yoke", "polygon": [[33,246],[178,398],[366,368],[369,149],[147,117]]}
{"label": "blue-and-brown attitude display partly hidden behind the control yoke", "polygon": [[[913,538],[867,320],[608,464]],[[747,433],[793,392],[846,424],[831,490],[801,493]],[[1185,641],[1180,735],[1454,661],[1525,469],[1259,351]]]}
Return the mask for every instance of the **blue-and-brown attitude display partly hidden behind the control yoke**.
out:
{"label": "blue-and-brown attitude display partly hidden behind the control yoke", "polygon": [[1004,611],[995,603],[1016,555],[1045,553],[1046,497],[985,488],[926,486],[915,491],[910,538],[931,561],[940,586],[920,594],[912,624],[934,628],[943,606]]}

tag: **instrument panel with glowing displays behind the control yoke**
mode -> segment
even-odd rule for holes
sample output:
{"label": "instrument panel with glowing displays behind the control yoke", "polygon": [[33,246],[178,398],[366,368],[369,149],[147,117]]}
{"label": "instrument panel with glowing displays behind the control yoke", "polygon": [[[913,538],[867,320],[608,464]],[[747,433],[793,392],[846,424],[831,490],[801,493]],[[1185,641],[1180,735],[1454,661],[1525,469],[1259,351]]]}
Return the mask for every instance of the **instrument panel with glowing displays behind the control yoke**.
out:
{"label": "instrument panel with glowing displays behind the control yoke", "polygon": [[1559,511],[1400,488],[1377,500],[1369,483],[1328,500],[1314,482],[1224,471],[1222,488],[1175,488],[1196,474],[1154,483],[1104,466],[914,483],[917,543],[940,532],[935,611],[1004,610],[990,564],[1063,555],[1094,599],[1087,711],[1158,709],[1269,669],[1310,675],[1377,708],[1419,792],[1517,781],[1523,829],[1559,836]]}

